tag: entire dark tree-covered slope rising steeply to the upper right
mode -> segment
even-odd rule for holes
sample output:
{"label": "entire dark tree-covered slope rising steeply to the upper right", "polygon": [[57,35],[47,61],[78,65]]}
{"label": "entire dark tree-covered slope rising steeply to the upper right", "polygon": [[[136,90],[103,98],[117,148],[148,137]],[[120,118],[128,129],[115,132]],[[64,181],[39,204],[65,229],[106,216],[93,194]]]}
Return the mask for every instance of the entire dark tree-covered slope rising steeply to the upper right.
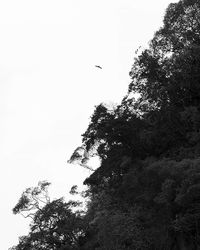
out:
{"label": "entire dark tree-covered slope rising steeply to the upper right", "polygon": [[50,202],[48,183],[27,189],[13,211],[31,216],[30,233],[12,249],[200,249],[200,1],[168,6],[130,77],[121,104],[95,108],[69,160],[100,159],[85,211]]}

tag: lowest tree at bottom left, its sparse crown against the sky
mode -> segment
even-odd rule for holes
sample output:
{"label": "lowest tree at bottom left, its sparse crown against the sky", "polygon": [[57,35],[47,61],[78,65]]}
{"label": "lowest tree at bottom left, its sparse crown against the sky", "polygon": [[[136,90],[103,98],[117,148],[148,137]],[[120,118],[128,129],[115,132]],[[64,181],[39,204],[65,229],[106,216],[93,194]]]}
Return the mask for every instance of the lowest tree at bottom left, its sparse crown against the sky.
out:
{"label": "lowest tree at bottom left, its sparse crown against the sky", "polygon": [[35,188],[23,192],[13,212],[26,213],[32,219],[30,233],[20,237],[13,249],[76,250],[79,237],[84,234],[83,213],[75,208],[80,202],[65,202],[63,198],[50,201],[48,182],[39,182]]}

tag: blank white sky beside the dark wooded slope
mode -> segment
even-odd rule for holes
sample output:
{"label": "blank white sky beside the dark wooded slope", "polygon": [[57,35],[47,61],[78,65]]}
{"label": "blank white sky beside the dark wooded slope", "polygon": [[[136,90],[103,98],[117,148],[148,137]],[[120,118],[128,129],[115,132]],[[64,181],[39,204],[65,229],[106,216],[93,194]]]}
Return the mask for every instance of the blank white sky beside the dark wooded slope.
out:
{"label": "blank white sky beside the dark wooded slope", "polygon": [[12,214],[27,187],[48,180],[58,198],[88,176],[67,160],[94,106],[126,94],[134,52],[162,25],[170,2],[0,1],[2,250],[28,232],[29,222]]}

